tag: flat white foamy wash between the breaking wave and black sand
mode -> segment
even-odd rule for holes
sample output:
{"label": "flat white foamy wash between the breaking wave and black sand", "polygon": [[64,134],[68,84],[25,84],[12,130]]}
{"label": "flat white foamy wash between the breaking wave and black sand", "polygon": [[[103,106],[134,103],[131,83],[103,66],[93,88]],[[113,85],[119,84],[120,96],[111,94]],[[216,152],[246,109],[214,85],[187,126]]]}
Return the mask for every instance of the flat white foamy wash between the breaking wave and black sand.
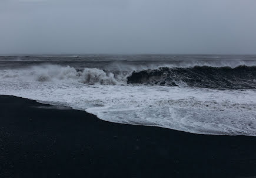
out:
{"label": "flat white foamy wash between the breaking wave and black sand", "polygon": [[[110,122],[154,125],[197,134],[256,136],[256,90],[84,85],[77,82],[75,72],[72,68],[63,71],[75,83],[42,83],[26,74],[31,80],[1,78],[0,94],[82,109]],[[15,78],[15,74],[11,77]],[[51,80],[56,78],[59,79]]]}

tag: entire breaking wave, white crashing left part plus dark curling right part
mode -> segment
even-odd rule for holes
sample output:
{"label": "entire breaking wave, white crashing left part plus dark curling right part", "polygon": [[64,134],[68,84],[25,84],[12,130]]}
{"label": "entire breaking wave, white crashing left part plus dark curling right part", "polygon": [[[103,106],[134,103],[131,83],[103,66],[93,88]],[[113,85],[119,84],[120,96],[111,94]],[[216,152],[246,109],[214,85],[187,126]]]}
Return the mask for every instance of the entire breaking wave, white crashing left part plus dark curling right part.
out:
{"label": "entire breaking wave, white crashing left part plus dark curling right part", "polygon": [[0,70],[0,80],[61,82],[101,85],[165,85],[200,88],[256,88],[256,66],[159,67],[137,71],[107,71],[96,68],[41,65],[26,69]]}

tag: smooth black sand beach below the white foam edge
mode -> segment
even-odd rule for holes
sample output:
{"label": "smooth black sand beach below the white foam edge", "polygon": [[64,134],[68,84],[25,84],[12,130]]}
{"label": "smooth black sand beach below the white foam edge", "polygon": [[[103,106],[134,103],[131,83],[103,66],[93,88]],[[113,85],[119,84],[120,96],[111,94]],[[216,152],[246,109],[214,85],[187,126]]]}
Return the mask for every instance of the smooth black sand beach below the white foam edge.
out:
{"label": "smooth black sand beach below the white foam edge", "polygon": [[0,177],[256,176],[256,137],[106,122],[0,95]]}

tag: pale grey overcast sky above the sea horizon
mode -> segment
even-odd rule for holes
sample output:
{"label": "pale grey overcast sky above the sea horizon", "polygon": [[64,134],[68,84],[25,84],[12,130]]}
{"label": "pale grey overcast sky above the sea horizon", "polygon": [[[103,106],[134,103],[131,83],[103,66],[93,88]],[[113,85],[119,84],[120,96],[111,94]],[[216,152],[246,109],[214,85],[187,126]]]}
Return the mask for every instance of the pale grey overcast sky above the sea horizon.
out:
{"label": "pale grey overcast sky above the sea horizon", "polygon": [[256,54],[255,0],[0,0],[0,53]]}

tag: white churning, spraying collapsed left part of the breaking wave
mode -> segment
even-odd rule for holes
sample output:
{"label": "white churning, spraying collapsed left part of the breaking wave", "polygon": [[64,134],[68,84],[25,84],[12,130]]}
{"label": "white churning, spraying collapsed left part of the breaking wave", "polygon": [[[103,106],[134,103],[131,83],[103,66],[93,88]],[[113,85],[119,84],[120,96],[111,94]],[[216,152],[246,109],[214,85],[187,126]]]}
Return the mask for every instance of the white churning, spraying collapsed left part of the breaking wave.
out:
{"label": "white churning, spraying collapsed left part of the breaking wave", "polygon": [[42,65],[28,69],[0,70],[1,81],[40,81],[54,83],[122,84],[125,77],[114,78],[114,74],[100,69],[85,68],[77,71],[74,67]]}

